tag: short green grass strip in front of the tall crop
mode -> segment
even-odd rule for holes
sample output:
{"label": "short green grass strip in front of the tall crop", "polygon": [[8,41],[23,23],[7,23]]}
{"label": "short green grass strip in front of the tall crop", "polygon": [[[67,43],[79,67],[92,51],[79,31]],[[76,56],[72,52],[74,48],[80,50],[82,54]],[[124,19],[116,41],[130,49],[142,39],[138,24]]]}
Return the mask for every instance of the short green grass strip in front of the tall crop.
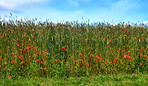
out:
{"label": "short green grass strip in front of the tall crop", "polygon": [[148,74],[96,75],[91,77],[0,78],[1,86],[148,86]]}

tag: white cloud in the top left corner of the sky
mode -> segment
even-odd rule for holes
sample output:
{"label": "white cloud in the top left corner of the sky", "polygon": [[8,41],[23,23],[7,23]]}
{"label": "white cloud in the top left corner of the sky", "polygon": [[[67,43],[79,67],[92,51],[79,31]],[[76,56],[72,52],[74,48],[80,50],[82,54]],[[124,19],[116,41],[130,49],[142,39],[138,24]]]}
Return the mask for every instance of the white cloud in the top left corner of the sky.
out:
{"label": "white cloud in the top left corner of the sky", "polygon": [[17,6],[22,4],[28,4],[33,2],[41,2],[43,0],[1,0],[0,6],[8,8],[8,9],[14,9],[19,8]]}

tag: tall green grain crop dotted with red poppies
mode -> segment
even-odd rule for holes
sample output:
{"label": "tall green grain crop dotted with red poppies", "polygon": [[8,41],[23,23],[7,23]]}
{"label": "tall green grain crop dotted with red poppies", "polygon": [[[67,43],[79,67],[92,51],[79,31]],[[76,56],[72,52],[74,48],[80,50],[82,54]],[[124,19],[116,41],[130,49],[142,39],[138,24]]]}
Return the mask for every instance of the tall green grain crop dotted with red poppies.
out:
{"label": "tall green grain crop dotted with red poppies", "polygon": [[0,76],[148,72],[148,27],[0,22]]}

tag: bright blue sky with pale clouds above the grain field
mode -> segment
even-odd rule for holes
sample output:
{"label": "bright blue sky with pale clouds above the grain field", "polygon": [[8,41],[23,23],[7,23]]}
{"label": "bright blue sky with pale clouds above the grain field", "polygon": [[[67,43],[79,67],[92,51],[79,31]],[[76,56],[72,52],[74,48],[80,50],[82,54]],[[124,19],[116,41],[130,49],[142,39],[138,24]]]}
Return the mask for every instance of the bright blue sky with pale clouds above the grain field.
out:
{"label": "bright blue sky with pale clouds above the grain field", "polygon": [[[148,0],[0,0],[0,16],[55,21],[148,21]],[[83,16],[83,20],[82,20]]]}

